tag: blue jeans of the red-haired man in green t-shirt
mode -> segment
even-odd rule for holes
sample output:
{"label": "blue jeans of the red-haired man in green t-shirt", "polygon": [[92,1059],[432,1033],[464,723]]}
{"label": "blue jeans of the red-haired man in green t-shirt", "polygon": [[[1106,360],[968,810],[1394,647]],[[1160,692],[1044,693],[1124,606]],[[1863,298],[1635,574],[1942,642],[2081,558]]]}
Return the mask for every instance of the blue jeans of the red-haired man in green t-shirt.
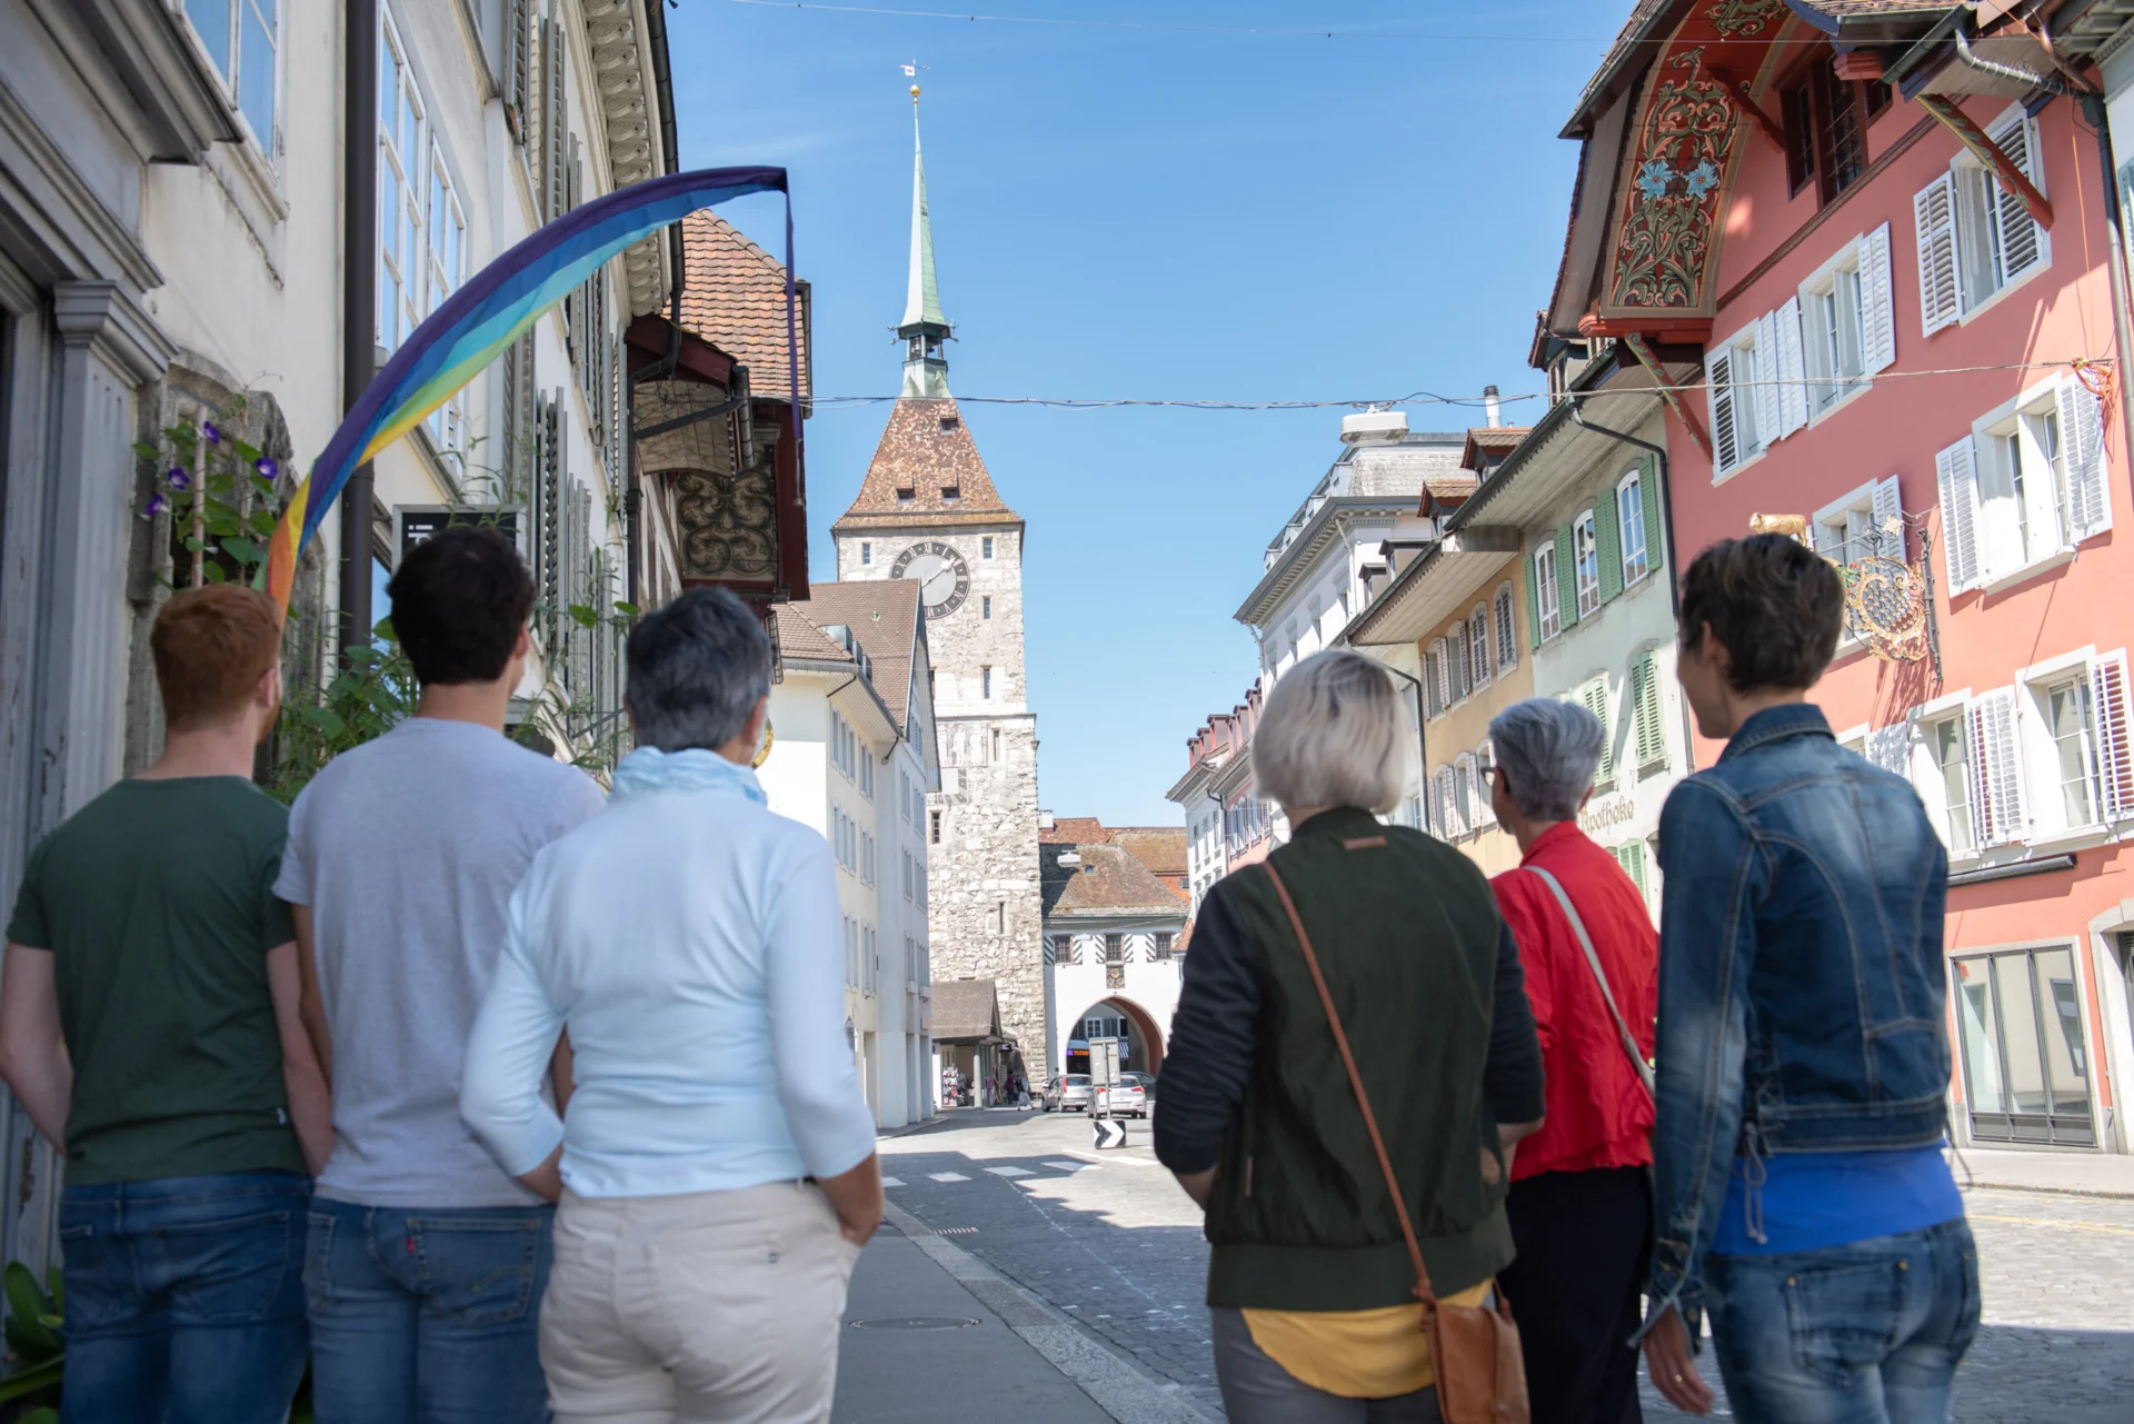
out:
{"label": "blue jeans of the red-haired man in green t-shirt", "polygon": [[64,1424],[280,1424],[309,1196],[290,1172],[68,1187]]}

